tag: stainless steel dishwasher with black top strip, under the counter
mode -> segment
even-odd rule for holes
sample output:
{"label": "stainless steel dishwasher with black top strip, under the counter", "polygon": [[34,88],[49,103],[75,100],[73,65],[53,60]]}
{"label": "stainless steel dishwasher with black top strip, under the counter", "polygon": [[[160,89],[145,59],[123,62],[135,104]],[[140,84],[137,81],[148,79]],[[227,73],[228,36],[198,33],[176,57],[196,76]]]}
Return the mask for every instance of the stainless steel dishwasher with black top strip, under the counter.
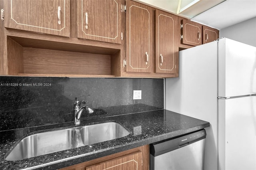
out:
{"label": "stainless steel dishwasher with black top strip, under the counter", "polygon": [[206,131],[150,144],[151,170],[203,170]]}

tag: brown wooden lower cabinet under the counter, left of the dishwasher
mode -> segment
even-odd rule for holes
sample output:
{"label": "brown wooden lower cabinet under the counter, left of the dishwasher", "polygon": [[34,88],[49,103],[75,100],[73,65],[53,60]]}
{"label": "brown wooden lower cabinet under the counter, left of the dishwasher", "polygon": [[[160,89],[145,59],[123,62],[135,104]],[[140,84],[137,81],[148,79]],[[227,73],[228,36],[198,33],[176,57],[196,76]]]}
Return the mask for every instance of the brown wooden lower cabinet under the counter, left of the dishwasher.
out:
{"label": "brown wooden lower cabinet under the counter, left of the dishwasher", "polygon": [[90,160],[61,170],[148,170],[149,145]]}

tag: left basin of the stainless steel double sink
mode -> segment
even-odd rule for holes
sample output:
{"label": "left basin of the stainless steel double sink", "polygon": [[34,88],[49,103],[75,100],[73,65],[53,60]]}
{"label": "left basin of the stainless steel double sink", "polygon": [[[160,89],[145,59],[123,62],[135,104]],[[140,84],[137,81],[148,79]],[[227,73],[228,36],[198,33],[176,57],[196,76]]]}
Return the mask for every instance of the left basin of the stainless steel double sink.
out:
{"label": "left basin of the stainless steel double sink", "polygon": [[6,160],[22,160],[76,148],[76,139],[76,130],[73,129],[32,134],[23,138],[6,157]]}

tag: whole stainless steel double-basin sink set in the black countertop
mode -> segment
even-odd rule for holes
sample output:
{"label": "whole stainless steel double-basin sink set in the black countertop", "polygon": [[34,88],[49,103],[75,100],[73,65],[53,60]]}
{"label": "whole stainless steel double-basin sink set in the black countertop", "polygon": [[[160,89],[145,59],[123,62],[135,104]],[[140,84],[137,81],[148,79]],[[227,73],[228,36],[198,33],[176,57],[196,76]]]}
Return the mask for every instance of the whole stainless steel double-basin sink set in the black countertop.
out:
{"label": "whole stainless steel double-basin sink set in the black countertop", "polygon": [[94,144],[130,134],[119,123],[107,122],[32,134],[20,140],[6,160],[22,160],[88,144]]}

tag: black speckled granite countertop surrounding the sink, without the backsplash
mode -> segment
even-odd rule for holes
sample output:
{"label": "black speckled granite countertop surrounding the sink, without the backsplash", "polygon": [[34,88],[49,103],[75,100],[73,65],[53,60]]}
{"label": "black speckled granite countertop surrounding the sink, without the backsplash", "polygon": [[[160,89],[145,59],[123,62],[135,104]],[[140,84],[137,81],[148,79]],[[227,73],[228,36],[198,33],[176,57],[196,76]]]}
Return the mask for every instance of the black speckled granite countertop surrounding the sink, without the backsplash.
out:
{"label": "black speckled granite countertop surrounding the sink, without the backsplash", "polygon": [[74,127],[74,123],[69,122],[42,127],[2,131],[0,133],[0,167],[2,170],[64,168],[66,166],[122,152],[124,150],[158,142],[210,126],[210,123],[206,121],[166,111],[164,109],[84,120],[81,121],[81,125],[79,126],[109,121],[120,123],[120,125],[130,130],[130,134],[106,142],[17,161],[7,161],[4,159],[4,156],[10,152],[16,142],[23,136],[28,135],[28,133],[36,133],[38,130],[71,128]]}

